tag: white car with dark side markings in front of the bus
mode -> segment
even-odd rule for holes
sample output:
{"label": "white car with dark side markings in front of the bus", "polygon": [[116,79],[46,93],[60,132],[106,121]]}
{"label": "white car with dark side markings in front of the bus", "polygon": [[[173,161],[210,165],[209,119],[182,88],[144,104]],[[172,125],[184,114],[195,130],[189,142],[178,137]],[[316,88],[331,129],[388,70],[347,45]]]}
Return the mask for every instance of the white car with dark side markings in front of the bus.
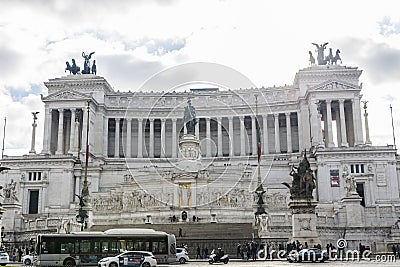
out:
{"label": "white car with dark side markings in front of the bus", "polygon": [[155,267],[156,257],[149,251],[126,251],[114,257],[101,259],[98,267],[119,267],[119,265]]}

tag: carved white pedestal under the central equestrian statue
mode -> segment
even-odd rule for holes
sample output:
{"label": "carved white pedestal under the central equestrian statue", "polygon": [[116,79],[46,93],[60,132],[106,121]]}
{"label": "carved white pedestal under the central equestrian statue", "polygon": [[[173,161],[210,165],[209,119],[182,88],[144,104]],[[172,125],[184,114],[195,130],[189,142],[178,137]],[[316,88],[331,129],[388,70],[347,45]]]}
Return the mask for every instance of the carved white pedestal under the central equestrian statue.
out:
{"label": "carved white pedestal under the central equestrian statue", "polygon": [[200,140],[193,134],[184,134],[179,140],[178,169],[185,172],[198,172],[201,164]]}

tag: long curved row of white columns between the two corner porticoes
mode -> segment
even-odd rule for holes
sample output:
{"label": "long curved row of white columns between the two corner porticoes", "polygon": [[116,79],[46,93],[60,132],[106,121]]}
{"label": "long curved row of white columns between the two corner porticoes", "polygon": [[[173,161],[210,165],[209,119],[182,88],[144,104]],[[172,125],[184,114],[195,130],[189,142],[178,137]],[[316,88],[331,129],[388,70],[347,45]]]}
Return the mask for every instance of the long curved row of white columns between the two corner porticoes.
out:
{"label": "long curved row of white columns between the two corner porticoes", "polygon": [[[257,155],[258,119],[263,154],[292,153],[302,149],[298,117],[296,112],[286,112],[258,118],[245,115],[198,118],[195,135],[201,141],[205,157]],[[103,153],[108,157],[175,158],[179,136],[186,133],[182,119],[178,118],[105,118],[105,125],[107,145]]]}

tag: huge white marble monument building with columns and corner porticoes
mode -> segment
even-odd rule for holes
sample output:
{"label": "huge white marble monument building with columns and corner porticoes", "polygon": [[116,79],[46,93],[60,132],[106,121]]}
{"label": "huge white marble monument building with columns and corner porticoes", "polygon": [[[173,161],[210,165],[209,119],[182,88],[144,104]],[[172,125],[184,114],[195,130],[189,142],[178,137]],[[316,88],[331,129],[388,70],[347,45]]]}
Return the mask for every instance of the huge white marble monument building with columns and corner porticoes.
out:
{"label": "huge white marble monument building with columns and corner porticoes", "polygon": [[5,242],[76,224],[87,128],[90,229],[184,223],[182,212],[199,224],[254,223],[258,121],[266,191],[260,229],[291,240],[291,193],[282,183],[291,183],[306,151],[315,217],[299,225],[312,224],[322,244],[347,236],[350,246],[386,250],[400,215],[399,160],[393,146],[364,141],[362,71],[323,65],[322,46],[320,65],[299,70],[292,85],[269,88],[116,92],[104,77],[67,68],[70,75],[45,82],[43,150],[1,160],[11,168],[0,174],[10,190],[3,192]]}

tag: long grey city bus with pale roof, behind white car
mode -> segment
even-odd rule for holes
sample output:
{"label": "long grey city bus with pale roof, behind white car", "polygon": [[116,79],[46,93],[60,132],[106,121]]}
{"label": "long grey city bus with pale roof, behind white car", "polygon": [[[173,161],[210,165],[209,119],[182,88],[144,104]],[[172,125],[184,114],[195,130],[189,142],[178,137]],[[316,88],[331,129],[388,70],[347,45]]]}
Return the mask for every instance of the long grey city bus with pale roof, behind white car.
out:
{"label": "long grey city bus with pale roof, behind white car", "polygon": [[37,236],[37,264],[97,265],[104,257],[124,251],[150,251],[158,263],[176,259],[176,239],[153,229],[109,229],[104,232],[41,234]]}

